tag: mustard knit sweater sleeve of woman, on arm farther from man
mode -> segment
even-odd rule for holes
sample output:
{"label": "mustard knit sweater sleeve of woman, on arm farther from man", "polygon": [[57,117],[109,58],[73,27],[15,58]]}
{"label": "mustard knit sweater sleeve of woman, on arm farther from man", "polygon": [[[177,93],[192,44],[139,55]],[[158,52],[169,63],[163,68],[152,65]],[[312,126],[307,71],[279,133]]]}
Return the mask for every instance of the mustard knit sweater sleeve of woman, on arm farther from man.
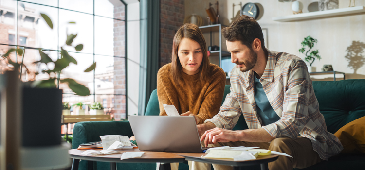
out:
{"label": "mustard knit sweater sleeve of woman, on arm farther from man", "polygon": [[164,85],[164,76],[168,76],[168,74],[166,75],[165,71],[160,69],[157,73],[157,96],[159,100],[160,116],[167,116],[164,109],[164,104],[172,104],[172,102],[168,98],[168,94],[166,91],[167,87],[166,85]]}

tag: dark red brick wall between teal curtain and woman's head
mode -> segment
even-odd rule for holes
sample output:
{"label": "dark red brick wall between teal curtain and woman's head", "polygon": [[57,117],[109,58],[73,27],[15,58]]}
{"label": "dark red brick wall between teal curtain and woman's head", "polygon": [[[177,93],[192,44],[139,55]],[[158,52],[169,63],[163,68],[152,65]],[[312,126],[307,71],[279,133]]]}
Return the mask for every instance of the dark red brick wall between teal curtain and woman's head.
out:
{"label": "dark red brick wall between teal curtain and woman's head", "polygon": [[185,17],[184,0],[160,0],[160,64],[171,62],[172,41]]}

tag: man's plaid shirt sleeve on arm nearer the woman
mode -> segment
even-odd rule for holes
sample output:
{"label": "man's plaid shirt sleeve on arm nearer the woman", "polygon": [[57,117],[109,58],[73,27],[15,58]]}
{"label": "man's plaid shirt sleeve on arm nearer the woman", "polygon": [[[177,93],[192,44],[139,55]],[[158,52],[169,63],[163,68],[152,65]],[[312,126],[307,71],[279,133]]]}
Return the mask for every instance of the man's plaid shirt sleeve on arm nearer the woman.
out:
{"label": "man's plaid shirt sleeve on arm nearer the woman", "polygon": [[217,127],[223,129],[232,129],[235,127],[242,112],[236,95],[233,92],[232,85],[230,91],[231,92],[227,94],[226,98],[224,99],[224,103],[220,107],[219,113],[212,119],[205,120],[204,123],[212,122]]}

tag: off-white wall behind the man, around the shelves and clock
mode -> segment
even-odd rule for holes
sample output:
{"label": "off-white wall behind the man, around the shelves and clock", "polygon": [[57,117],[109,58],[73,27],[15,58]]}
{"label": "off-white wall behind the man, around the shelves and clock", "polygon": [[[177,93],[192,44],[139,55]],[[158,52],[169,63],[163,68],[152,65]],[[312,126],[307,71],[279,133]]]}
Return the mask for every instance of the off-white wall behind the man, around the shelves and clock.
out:
{"label": "off-white wall behind the man, around the shelves and clock", "polygon": [[[193,13],[200,15],[207,24],[207,14],[205,9],[208,8],[209,2],[215,3],[217,0],[185,0],[185,16]],[[299,53],[301,41],[304,37],[310,35],[318,40],[313,49],[318,49],[322,59],[316,60],[312,66],[317,67],[320,71],[325,64],[331,64],[336,71],[346,73],[346,79],[363,79],[365,78],[365,67],[354,70],[347,67],[349,61],[345,58],[347,55],[347,47],[351,46],[353,41],[365,43],[365,14],[342,16],[332,18],[321,18],[307,21],[297,22],[277,22],[272,17],[287,16],[292,14],[292,3],[282,3],[278,0],[218,0],[220,21],[224,25],[229,25],[232,18],[232,4],[242,2],[260,3],[264,8],[264,14],[258,20],[261,28],[268,29],[268,46],[270,50],[285,51],[304,58],[304,54]],[[303,3],[303,12],[308,12],[308,5],[318,0],[299,0]],[[339,8],[347,8],[349,0],[339,0]],[[365,0],[355,0],[356,6],[365,6]],[[216,6],[213,5],[216,9]],[[239,6],[235,7],[235,13],[239,10]],[[265,41],[267,41],[265,39]],[[223,45],[223,43],[222,43]],[[225,45],[225,44],[224,44]],[[224,48],[223,48],[224,49]],[[362,53],[365,55],[365,52]],[[331,77],[329,75],[327,77]],[[333,77],[333,76],[332,76]],[[339,75],[339,77],[341,77]],[[324,77],[313,77],[322,79]],[[314,79],[313,79],[314,80]],[[326,79],[326,80],[332,80]]]}

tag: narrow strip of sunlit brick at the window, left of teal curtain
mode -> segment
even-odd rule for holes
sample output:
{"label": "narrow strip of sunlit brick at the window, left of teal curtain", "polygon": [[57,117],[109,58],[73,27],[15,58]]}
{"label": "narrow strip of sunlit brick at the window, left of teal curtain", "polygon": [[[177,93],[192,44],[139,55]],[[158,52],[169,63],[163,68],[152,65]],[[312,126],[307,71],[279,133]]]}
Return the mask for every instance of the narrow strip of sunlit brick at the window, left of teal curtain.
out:
{"label": "narrow strip of sunlit brick at the window, left of teal curtain", "polygon": [[[125,6],[114,7],[114,18],[125,19]],[[114,20],[114,56],[125,56],[125,22]],[[114,57],[114,118],[126,118],[126,69],[125,59]]]}

